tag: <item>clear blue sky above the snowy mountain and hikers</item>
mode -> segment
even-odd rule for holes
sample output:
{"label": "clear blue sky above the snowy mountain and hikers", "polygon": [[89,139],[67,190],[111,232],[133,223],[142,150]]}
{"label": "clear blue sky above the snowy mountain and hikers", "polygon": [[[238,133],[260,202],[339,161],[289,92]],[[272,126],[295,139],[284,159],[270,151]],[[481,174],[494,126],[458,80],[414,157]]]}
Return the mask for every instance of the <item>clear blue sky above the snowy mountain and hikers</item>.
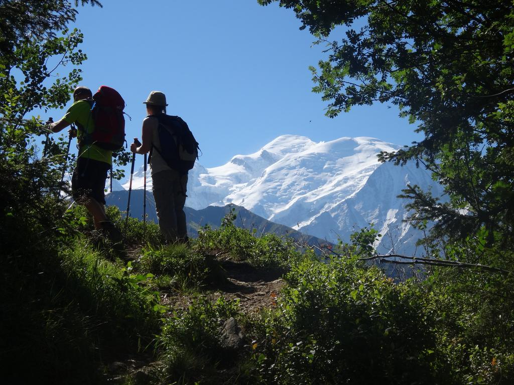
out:
{"label": "clear blue sky above the snowy mountain and hikers", "polygon": [[121,93],[132,117],[126,123],[129,142],[141,137],[142,102],[151,90],[166,93],[168,113],[188,122],[206,167],[254,152],[282,134],[314,141],[369,136],[395,144],[421,139],[394,106],[362,106],[326,118],[326,103],[311,92],[308,69],[323,57],[323,47],[313,46],[314,37],[299,30],[295,14],[277,4],[102,3],[79,8],[75,26],[84,33],[81,49],[88,56],[82,84],[92,90],[105,84]]}

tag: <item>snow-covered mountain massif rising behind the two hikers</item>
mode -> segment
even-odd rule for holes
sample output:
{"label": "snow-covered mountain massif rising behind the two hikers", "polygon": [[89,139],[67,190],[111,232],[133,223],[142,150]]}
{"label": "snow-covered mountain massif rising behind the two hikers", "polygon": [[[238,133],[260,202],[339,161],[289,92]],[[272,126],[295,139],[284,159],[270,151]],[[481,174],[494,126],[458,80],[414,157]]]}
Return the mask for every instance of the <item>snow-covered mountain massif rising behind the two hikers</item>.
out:
{"label": "snow-covered mountain massif rising behind the two hikers", "polygon": [[[186,205],[201,209],[234,203],[332,242],[338,237],[347,241],[355,230],[374,223],[383,235],[377,244],[380,253],[412,254],[420,234],[402,223],[407,202],[396,196],[408,183],[431,189],[435,196],[443,189],[414,164],[378,162],[378,152],[400,147],[367,137],[316,143],[284,135],[223,166],[205,168],[197,162],[189,173]],[[132,188],[143,188],[143,180],[141,168]],[[146,183],[151,189],[150,171]],[[123,187],[128,188],[128,181]]]}

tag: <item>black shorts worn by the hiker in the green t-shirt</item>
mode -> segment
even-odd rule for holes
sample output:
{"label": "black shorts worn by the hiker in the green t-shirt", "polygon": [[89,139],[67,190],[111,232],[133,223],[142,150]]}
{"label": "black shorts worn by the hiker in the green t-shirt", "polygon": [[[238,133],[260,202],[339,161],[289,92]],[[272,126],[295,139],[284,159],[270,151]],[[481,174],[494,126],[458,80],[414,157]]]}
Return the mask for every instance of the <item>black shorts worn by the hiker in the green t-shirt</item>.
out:
{"label": "black shorts worn by the hiker in the green t-shirt", "polygon": [[87,198],[94,198],[98,203],[105,204],[105,180],[111,165],[89,158],[79,158],[77,167],[71,177],[73,199],[84,203]]}

